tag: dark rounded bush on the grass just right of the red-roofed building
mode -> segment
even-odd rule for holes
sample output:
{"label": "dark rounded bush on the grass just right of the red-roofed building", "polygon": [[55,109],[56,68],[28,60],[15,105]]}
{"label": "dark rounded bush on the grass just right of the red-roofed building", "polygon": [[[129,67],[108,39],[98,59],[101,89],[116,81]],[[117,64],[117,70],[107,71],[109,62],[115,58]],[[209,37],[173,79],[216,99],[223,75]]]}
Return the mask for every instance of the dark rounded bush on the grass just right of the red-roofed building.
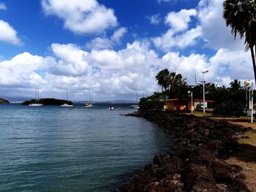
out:
{"label": "dark rounded bush on the grass just right of the red-roofed building", "polygon": [[238,101],[224,101],[214,107],[214,114],[239,117],[244,114],[244,105]]}

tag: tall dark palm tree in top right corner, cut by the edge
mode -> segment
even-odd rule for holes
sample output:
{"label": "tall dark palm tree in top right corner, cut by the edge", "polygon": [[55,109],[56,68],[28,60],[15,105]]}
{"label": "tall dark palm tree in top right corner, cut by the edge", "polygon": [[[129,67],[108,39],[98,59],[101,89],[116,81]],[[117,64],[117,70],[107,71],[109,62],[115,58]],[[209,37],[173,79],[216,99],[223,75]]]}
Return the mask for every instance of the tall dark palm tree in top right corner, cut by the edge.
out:
{"label": "tall dark palm tree in top right corner, cut by the edge", "polygon": [[235,39],[237,34],[240,38],[245,37],[244,44],[246,51],[251,51],[256,81],[256,48],[255,53],[253,48],[256,45],[256,0],[225,0],[223,7],[223,17],[227,26],[231,27]]}

